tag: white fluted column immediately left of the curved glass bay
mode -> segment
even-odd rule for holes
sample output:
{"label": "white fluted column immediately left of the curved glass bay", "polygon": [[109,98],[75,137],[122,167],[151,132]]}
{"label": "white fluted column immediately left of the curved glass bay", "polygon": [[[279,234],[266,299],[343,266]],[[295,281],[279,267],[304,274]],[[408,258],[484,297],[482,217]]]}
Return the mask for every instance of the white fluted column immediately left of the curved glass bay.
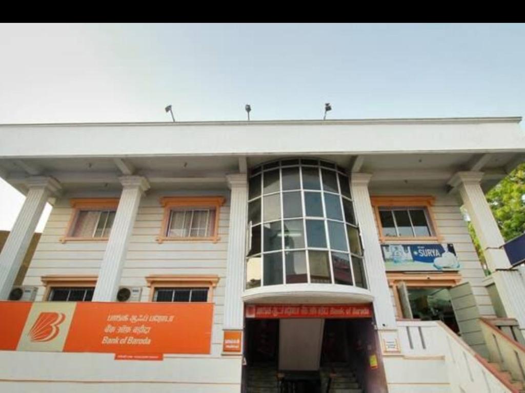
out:
{"label": "white fluted column immediately left of the curved glass bay", "polygon": [[228,255],[226,261],[226,293],[224,299],[224,330],[243,329],[243,290],[248,219],[248,183],[245,173],[229,174],[230,217]]}

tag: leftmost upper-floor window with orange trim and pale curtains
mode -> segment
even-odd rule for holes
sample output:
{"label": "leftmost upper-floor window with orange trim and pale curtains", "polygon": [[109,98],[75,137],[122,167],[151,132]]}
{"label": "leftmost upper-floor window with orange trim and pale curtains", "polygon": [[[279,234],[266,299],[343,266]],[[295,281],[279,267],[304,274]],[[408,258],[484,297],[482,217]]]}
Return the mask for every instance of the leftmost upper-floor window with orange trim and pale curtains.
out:
{"label": "leftmost upper-floor window with orange trim and pale curtains", "polygon": [[106,241],[109,238],[118,198],[76,198],[70,203],[73,212],[62,242]]}

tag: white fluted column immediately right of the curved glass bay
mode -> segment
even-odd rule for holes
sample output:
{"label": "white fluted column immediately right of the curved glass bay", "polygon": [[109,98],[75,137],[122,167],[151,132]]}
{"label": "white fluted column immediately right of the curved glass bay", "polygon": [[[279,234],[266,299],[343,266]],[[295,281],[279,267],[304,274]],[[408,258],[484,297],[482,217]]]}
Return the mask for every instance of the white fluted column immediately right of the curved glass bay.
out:
{"label": "white fluted column immediately right of the curved glass bay", "polygon": [[394,306],[388,288],[383,253],[381,252],[374,211],[368,191],[368,183],[371,177],[372,175],[368,173],[352,173],[352,198],[363,241],[366,279],[369,289],[374,295],[374,314],[377,329],[396,329]]}

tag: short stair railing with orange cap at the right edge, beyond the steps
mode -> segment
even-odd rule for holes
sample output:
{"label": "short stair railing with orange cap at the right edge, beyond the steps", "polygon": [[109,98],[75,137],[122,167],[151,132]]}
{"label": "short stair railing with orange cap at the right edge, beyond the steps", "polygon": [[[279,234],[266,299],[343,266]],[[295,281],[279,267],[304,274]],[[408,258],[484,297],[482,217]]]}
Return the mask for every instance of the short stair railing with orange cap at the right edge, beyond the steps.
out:
{"label": "short stair railing with orange cap at the right edge, beyond the steps", "polygon": [[481,318],[480,326],[490,361],[498,363],[512,378],[525,381],[525,347],[503,333],[490,319]]}

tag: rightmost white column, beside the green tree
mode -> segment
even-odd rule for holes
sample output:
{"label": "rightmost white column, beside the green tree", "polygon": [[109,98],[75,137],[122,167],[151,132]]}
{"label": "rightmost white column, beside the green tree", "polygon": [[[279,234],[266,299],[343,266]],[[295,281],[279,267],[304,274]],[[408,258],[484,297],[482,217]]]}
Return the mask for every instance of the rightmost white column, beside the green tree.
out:
{"label": "rightmost white column, beside the green tree", "polygon": [[482,172],[458,172],[449,184],[461,195],[507,316],[525,330],[525,281],[519,270],[509,270],[512,266],[501,248],[505,241],[480,186],[482,177]]}

